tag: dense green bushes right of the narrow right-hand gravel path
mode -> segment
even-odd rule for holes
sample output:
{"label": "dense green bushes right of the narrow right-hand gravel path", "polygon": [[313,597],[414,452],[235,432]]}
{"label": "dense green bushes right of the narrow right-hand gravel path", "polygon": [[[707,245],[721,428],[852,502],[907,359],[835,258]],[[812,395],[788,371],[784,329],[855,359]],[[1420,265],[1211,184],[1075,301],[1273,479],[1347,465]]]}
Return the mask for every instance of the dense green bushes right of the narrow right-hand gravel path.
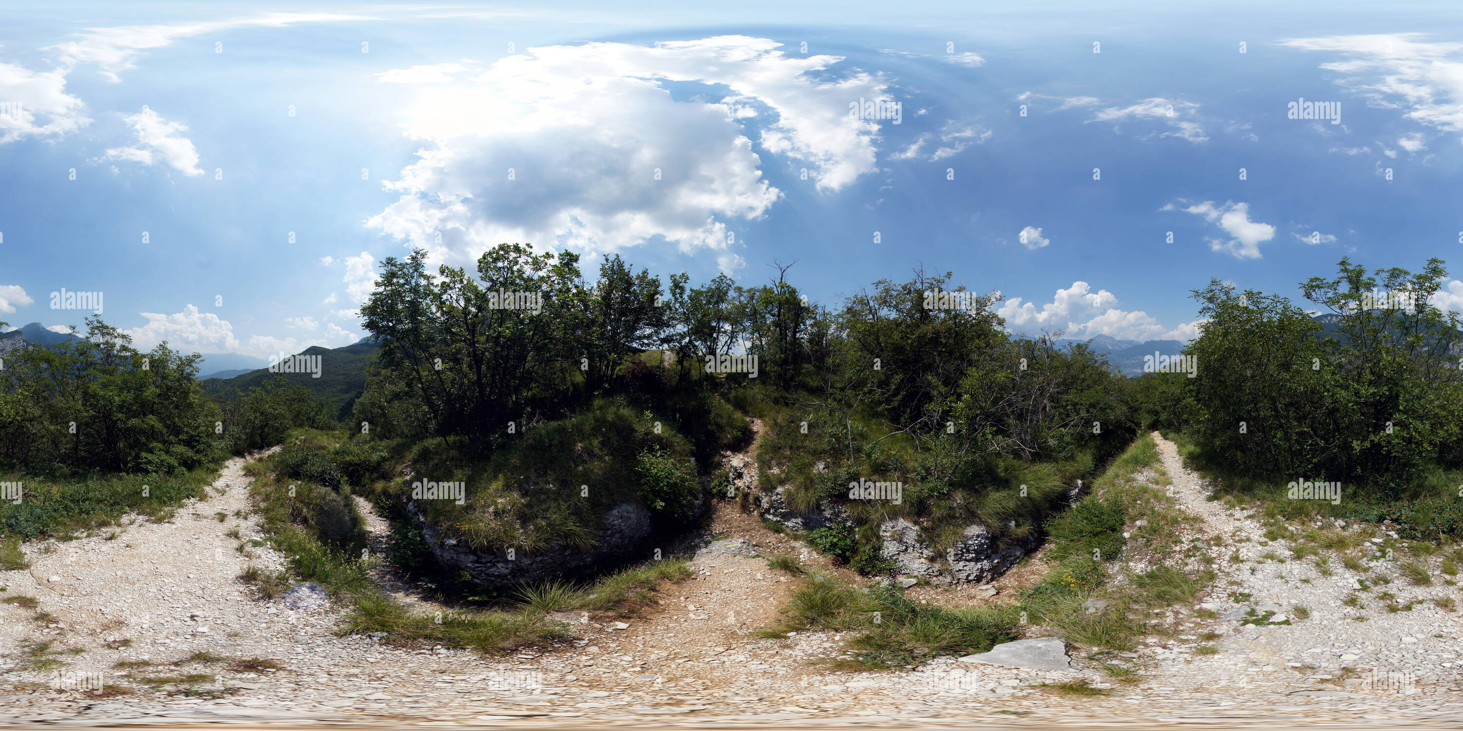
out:
{"label": "dense green bushes right of the narrow right-hand gravel path", "polygon": [[[1301,282],[1330,310],[1321,319],[1213,281],[1195,292],[1207,322],[1185,351],[1198,377],[1141,379],[1143,421],[1182,430],[1227,491],[1312,480],[1342,482],[1353,506],[1441,506],[1456,481],[1438,472],[1463,466],[1463,333],[1432,301],[1445,281],[1437,259],[1419,273],[1342,259],[1336,278]],[[1429,531],[1456,529],[1437,515]]]}

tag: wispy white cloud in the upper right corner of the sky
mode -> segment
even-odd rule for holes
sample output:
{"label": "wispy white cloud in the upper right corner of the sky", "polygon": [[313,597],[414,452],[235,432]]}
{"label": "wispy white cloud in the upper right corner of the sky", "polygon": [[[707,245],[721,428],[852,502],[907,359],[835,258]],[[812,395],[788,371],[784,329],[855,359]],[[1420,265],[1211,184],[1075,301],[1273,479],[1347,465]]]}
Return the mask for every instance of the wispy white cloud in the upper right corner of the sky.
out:
{"label": "wispy white cloud in the upper right corner of the sky", "polygon": [[1331,51],[1344,60],[1323,63],[1337,82],[1369,107],[1407,110],[1434,129],[1463,132],[1463,44],[1425,42],[1423,34],[1289,38],[1282,45]]}

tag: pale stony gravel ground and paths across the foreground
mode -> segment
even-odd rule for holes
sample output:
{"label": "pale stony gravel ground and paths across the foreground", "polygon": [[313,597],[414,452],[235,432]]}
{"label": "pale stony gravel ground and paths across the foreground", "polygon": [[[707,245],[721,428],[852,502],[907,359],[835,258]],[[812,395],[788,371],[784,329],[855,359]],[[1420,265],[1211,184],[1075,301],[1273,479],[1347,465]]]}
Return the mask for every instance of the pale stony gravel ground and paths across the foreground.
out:
{"label": "pale stony gravel ground and paths across the foreground", "polygon": [[[1330,566],[1324,576],[1314,563],[1261,558],[1287,556],[1286,545],[1260,545],[1260,522],[1206,500],[1173,444],[1159,443],[1175,497],[1203,518],[1192,538],[1214,545],[1220,579],[1204,607],[1175,613],[1172,621],[1191,635],[1127,655],[1143,668],[1137,684],[1105,678],[1080,651],[1062,670],[958,658],[897,673],[821,670],[816,658],[838,652],[837,633],[758,639],[752,630],[777,617],[794,586],[759,556],[827,561],[729,503],[718,503],[691,563],[692,579],[667,586],[663,604],[632,623],[563,617],[578,639],[562,648],[484,658],[336,636],[338,607],[255,601],[237,580],[247,563],[281,567],[284,557],[266,547],[247,548],[252,558],[236,550],[260,538],[243,461],[236,459],[206,500],[189,501],[168,522],[132,520],[114,537],[104,531],[28,545],[29,570],[0,572],[0,596],[37,601],[34,608],[0,604],[0,715],[12,725],[1456,724],[1463,709],[1457,614],[1434,604],[1388,613],[1371,596],[1352,608],[1344,601],[1359,575]],[[379,545],[385,523],[367,518]],[[1220,547],[1216,537],[1227,539]],[[1009,601],[1039,564],[1028,561],[989,589],[919,588],[911,595],[925,602]],[[1396,573],[1390,561],[1366,567],[1366,576],[1388,572]],[[377,579],[404,601],[420,602],[389,572]],[[1399,602],[1456,595],[1444,583],[1402,583],[1388,585]],[[1293,617],[1295,604],[1306,605],[1309,617]],[[1242,627],[1249,607],[1276,614],[1264,626]],[[48,618],[37,620],[37,613]],[[1290,614],[1290,624],[1276,624],[1280,613]],[[1203,640],[1206,632],[1219,639]],[[1200,654],[1206,645],[1217,652]],[[60,665],[26,670],[47,661]],[[1393,687],[1368,683],[1372,668]],[[154,690],[138,681],[162,670],[195,675],[193,689]],[[1059,693],[1061,683],[1078,678],[1109,694]],[[91,690],[88,683],[98,680],[102,690]]]}

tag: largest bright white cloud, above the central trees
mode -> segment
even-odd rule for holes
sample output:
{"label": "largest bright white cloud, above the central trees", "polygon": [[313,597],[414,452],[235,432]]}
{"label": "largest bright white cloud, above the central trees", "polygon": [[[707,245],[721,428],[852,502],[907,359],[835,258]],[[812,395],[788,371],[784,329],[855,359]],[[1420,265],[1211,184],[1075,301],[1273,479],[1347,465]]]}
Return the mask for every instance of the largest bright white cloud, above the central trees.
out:
{"label": "largest bright white cloud, above the central trees", "polygon": [[[778,47],[743,35],[552,45],[421,86],[404,132],[429,145],[386,184],[401,199],[367,225],[435,260],[503,241],[594,253],[664,237],[682,251],[724,250],[730,221],[781,197],[748,135],[809,168],[822,192],[878,170],[890,121],[850,118],[849,105],[892,101],[888,83]],[[676,101],[666,82],[708,86]],[[708,99],[720,86],[732,94]]]}

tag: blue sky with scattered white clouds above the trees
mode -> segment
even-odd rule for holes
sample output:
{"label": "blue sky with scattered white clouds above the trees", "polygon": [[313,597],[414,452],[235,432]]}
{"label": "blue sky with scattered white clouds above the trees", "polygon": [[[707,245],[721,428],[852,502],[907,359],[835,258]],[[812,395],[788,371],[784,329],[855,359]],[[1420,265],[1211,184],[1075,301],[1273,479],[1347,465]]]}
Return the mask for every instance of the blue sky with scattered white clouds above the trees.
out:
{"label": "blue sky with scattered white clouds above the trees", "polygon": [[12,6],[0,320],[101,292],[142,348],[268,358],[366,335],[389,256],[519,241],[1189,339],[1211,278],[1457,259],[1459,10],[1276,4]]}

